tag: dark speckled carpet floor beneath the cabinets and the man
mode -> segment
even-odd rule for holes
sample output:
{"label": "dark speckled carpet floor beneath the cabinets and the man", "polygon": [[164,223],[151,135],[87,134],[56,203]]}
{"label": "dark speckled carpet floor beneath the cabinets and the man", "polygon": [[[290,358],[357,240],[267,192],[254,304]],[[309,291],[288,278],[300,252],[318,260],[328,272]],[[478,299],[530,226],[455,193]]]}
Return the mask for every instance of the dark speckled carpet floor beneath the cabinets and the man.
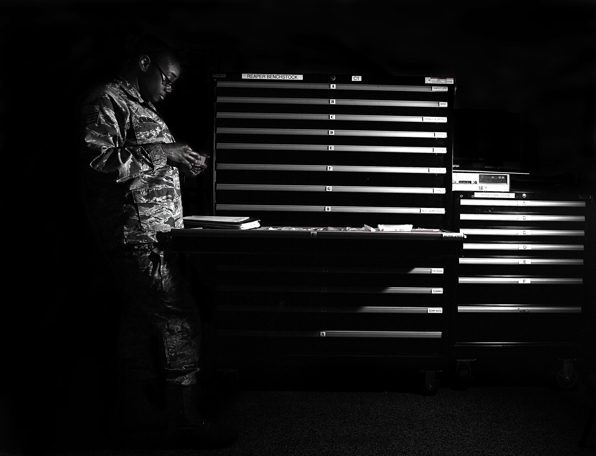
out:
{"label": "dark speckled carpet floor beneath the cabinets and the man", "polygon": [[[69,411],[89,407],[75,392]],[[80,396],[79,396],[80,398]],[[579,386],[554,391],[545,386],[471,386],[467,391],[441,388],[434,396],[414,391],[232,391],[213,396],[210,407],[219,421],[240,430],[234,446],[200,454],[217,455],[590,455],[578,448],[593,399]],[[215,405],[214,405],[215,404]],[[91,405],[92,404],[91,402]],[[73,418],[73,410],[75,417]],[[88,409],[85,409],[88,410]],[[78,415],[88,435],[78,449],[69,442],[69,420],[55,419],[55,442],[44,453],[64,455],[183,456],[193,451],[110,448],[91,429],[97,417]],[[42,413],[41,418],[51,413]],[[43,419],[32,420],[42,426]],[[85,421],[87,420],[87,421]],[[10,422],[2,417],[2,429]],[[592,431],[588,443],[596,441]],[[20,454],[7,435],[3,454]]]}

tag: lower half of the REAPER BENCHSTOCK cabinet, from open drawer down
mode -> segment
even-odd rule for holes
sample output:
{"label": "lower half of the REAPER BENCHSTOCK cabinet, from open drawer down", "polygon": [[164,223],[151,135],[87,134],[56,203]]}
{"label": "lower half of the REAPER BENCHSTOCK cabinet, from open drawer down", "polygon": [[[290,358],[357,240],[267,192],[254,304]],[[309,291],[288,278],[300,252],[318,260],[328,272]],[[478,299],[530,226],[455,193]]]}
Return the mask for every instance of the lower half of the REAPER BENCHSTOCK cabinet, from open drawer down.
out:
{"label": "lower half of the REAPER BENCHSTOCK cabinet, from open drawer down", "polygon": [[[445,369],[443,313],[461,239],[441,233],[172,230],[195,258],[213,368]],[[447,272],[447,273],[446,273]]]}

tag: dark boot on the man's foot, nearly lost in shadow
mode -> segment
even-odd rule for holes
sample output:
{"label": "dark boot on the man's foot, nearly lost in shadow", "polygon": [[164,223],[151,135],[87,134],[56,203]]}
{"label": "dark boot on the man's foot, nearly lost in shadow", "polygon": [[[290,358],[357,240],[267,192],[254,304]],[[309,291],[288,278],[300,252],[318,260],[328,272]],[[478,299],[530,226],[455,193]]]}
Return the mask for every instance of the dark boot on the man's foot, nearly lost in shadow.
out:
{"label": "dark boot on the man's foot, nearly lost in shadow", "polygon": [[231,424],[210,423],[201,416],[196,385],[168,385],[167,401],[170,412],[167,429],[169,448],[225,448],[238,439],[238,431]]}

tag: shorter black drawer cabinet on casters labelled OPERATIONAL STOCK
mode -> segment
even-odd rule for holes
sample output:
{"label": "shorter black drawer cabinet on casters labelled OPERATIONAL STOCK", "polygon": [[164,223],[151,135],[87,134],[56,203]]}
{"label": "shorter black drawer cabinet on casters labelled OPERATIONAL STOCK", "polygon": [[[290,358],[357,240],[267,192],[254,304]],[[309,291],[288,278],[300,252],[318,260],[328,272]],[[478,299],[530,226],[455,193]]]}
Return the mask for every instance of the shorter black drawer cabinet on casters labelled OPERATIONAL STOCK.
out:
{"label": "shorter black drawer cabinet on casters labelled OPERATIONAL STOCK", "polygon": [[466,236],[452,326],[455,358],[560,359],[554,380],[561,387],[575,383],[589,202],[541,192],[454,192],[455,228]]}

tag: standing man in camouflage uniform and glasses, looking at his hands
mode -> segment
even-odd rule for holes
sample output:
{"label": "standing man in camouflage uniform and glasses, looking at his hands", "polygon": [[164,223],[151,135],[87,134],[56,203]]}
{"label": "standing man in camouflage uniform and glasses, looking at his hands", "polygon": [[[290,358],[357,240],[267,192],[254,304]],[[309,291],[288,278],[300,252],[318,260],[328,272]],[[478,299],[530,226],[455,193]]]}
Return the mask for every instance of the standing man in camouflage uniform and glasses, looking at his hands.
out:
{"label": "standing man in camouflage uniform and glasses, looking at his hands", "polygon": [[198,371],[197,305],[177,258],[160,243],[163,232],[184,227],[178,171],[196,176],[206,167],[205,157],[176,143],[154,106],[180,73],[171,49],[145,38],[133,57],[122,76],[86,96],[80,113],[89,215],[128,301],[118,343],[120,371],[150,378],[151,346],[159,340],[157,362],[169,385],[169,434],[195,443],[198,435],[199,445],[217,445],[226,433],[223,439],[233,441],[235,430],[222,431],[195,416],[190,386]]}

